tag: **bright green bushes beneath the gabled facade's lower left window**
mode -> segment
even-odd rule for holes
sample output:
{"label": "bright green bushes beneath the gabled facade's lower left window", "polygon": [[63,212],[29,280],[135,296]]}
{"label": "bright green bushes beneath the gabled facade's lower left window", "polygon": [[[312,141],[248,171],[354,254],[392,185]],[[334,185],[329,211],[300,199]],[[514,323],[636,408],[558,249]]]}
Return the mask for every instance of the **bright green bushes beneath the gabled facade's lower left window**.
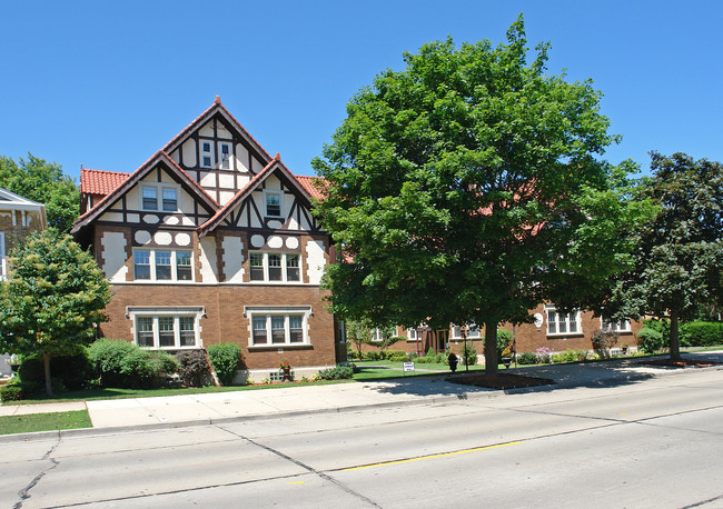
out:
{"label": "bright green bushes beneath the gabled facade's lower left window", "polygon": [[178,369],[169,353],[142,350],[123,340],[99,339],[88,348],[88,357],[103,387],[153,388]]}

